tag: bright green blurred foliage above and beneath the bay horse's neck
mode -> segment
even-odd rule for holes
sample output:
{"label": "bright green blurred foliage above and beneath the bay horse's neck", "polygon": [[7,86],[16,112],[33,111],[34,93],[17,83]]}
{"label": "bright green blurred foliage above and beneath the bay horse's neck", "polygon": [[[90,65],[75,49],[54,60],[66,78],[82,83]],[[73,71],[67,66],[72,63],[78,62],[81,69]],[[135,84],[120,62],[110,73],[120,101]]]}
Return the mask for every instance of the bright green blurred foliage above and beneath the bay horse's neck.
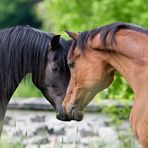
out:
{"label": "bright green blurred foliage above and beneath the bay horse's neck", "polygon": [[[67,37],[63,30],[81,32],[113,22],[147,27],[147,4],[147,0],[44,0],[36,10],[44,30]],[[98,97],[129,100],[134,96],[127,82],[117,74],[113,84]]]}

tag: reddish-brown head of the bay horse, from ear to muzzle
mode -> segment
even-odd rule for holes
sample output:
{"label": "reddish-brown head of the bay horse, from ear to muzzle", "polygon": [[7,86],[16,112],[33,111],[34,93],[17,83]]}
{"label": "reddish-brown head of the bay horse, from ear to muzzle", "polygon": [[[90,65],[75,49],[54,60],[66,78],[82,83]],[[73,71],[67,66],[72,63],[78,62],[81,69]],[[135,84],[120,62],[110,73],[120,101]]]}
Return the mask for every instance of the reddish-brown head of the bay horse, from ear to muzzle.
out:
{"label": "reddish-brown head of the bay horse, from ear to muzzle", "polygon": [[67,59],[71,78],[62,104],[65,116],[61,120],[80,121],[86,105],[98,92],[111,84],[114,75],[113,68],[106,62],[103,53],[91,47],[89,38],[86,41],[87,32],[68,32],[68,35],[73,39]]}

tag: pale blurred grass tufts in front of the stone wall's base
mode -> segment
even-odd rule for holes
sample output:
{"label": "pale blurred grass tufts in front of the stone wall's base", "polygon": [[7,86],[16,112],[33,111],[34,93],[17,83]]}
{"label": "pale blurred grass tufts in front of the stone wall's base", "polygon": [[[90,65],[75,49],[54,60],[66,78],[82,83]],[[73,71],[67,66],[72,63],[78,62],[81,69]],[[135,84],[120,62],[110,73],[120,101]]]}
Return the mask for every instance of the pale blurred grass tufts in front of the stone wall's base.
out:
{"label": "pale blurred grass tufts in front of the stone wall's base", "polygon": [[[16,124],[14,124],[14,127],[15,126],[16,126]],[[118,122],[116,122],[116,121],[114,121],[114,122],[110,121],[108,126],[111,126],[117,132],[117,140],[119,140],[119,142],[120,142],[118,147],[120,147],[120,148],[139,148],[138,143],[135,143],[134,136],[133,136],[132,131],[129,127],[123,128],[123,127],[121,127],[121,124],[118,124]],[[74,141],[72,143],[70,143],[70,144],[65,143],[64,136],[61,138],[62,138],[61,142],[58,140],[55,141],[54,148],[64,148],[64,147],[67,147],[67,145],[69,145],[71,147],[75,147],[75,148],[82,147],[79,126],[76,128],[76,135],[75,135],[75,137],[73,137]],[[25,147],[24,141],[26,139],[28,139],[27,133],[22,135],[18,140],[16,140],[16,139],[15,139],[15,136],[14,137],[11,137],[11,136],[6,137],[6,135],[5,135],[4,138],[1,139],[0,148],[24,148]],[[57,136],[57,139],[58,139],[58,136]],[[100,139],[99,135],[97,137],[96,136],[89,137],[88,140],[89,140],[89,143],[83,145],[87,148],[115,148],[114,143],[109,143],[109,144],[104,143]],[[50,141],[50,142],[51,143],[49,143],[49,147],[53,144],[52,141]],[[42,145],[36,144],[36,147],[40,148],[40,147],[42,147]]]}

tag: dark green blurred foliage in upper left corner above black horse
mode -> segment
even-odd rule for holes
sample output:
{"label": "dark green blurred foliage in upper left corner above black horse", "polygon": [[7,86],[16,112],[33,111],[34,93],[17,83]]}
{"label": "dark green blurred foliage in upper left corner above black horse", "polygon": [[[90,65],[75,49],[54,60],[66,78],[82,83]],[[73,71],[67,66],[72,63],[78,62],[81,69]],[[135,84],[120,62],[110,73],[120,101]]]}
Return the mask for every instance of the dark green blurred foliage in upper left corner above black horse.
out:
{"label": "dark green blurred foliage in upper left corner above black horse", "polygon": [[0,28],[17,25],[40,26],[30,0],[0,0]]}

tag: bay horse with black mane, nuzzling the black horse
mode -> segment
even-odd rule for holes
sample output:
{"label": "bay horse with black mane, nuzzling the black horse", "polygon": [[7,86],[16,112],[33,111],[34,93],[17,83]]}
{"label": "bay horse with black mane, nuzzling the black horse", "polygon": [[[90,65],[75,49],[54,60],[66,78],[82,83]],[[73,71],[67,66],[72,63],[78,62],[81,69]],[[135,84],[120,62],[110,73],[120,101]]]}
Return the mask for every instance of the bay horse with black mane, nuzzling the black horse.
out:
{"label": "bay horse with black mane, nuzzling the black horse", "polygon": [[118,71],[135,94],[132,130],[142,147],[148,148],[148,30],[117,22],[67,33],[73,39],[68,53],[71,78],[60,119],[82,120],[86,105],[112,83]]}

